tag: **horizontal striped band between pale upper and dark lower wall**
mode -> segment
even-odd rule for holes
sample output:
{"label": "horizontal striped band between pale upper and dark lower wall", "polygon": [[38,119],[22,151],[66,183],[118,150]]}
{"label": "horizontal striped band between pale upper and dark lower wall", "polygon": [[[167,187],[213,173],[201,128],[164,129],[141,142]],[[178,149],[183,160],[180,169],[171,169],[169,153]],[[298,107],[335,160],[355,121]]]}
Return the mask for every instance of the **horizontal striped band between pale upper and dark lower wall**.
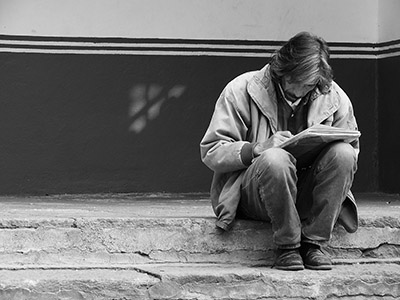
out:
{"label": "horizontal striped band between pale upper and dark lower wall", "polygon": [[[39,37],[0,35],[0,52],[45,54],[271,57],[283,41]],[[329,43],[332,58],[400,56],[400,40]]]}

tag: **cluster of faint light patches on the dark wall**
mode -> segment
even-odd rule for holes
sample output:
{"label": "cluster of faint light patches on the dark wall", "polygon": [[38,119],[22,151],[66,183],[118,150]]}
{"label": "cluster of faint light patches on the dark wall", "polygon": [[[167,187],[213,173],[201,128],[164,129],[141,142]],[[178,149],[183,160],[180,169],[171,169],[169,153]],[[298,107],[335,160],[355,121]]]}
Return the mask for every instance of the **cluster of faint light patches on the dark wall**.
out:
{"label": "cluster of faint light patches on the dark wall", "polygon": [[129,131],[139,134],[144,128],[160,115],[161,106],[170,100],[180,98],[186,87],[175,85],[163,87],[158,84],[135,85],[130,91],[129,117],[132,123]]}

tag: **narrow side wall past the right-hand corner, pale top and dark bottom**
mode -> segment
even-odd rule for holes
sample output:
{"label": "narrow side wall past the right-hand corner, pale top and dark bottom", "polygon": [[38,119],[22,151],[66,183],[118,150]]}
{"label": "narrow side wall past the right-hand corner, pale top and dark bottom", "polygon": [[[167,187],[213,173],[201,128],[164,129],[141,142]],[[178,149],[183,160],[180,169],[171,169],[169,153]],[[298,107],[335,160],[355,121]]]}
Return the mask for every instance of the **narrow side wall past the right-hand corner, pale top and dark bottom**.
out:
{"label": "narrow side wall past the right-hand corner, pale top and dark bottom", "polygon": [[[379,2],[379,35],[382,54],[379,60],[379,187],[391,193],[399,193],[400,159],[395,149],[400,147],[400,1]],[[397,49],[397,50],[396,50]],[[397,55],[396,55],[397,54]]]}

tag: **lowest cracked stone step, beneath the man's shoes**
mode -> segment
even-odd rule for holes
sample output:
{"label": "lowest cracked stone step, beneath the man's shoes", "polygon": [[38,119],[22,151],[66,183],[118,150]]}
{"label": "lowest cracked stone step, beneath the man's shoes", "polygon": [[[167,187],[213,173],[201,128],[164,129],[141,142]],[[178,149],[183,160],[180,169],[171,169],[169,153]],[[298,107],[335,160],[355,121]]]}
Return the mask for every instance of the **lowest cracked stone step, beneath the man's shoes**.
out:
{"label": "lowest cracked stone step, beneath the man's shoes", "polygon": [[144,264],[126,268],[10,268],[0,300],[400,299],[400,265],[337,265],[279,271],[238,264]]}

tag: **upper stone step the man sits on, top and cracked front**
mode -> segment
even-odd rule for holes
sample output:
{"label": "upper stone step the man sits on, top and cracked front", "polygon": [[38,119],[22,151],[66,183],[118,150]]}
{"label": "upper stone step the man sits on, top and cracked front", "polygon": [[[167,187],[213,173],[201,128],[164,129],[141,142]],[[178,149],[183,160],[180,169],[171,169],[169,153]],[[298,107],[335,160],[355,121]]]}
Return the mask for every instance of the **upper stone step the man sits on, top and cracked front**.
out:
{"label": "upper stone step the man sits on, top and cracked front", "polygon": [[[359,195],[360,228],[335,228],[335,262],[397,262],[400,200]],[[144,263],[272,264],[271,226],[239,220],[214,226],[207,195],[0,197],[0,261],[9,266],[76,267]]]}

